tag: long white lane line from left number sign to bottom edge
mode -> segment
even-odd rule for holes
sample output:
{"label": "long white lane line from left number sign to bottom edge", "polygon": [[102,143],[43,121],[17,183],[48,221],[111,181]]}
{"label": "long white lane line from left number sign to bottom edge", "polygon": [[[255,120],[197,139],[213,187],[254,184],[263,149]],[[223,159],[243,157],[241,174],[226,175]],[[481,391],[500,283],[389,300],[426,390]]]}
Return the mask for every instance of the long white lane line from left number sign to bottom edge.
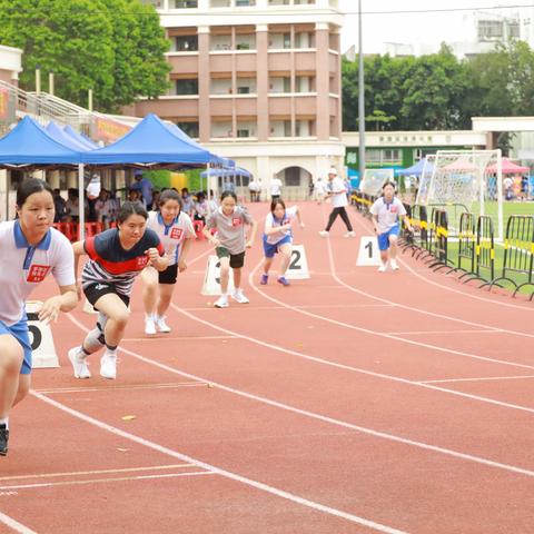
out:
{"label": "long white lane line from left number sign to bottom edge", "polygon": [[[122,349],[121,349],[122,350]],[[127,353],[130,353],[129,350],[126,350]],[[317,512],[323,512],[336,517],[340,517],[343,520],[350,521],[353,523],[367,526],[369,528],[373,528],[378,532],[384,532],[386,534],[406,534],[403,531],[399,531],[397,528],[393,528],[387,525],[383,525],[380,523],[376,523],[370,520],[366,520],[364,517],[359,517],[354,514],[349,514],[348,512],[343,512],[337,508],[333,508],[330,506],[323,505],[320,503],[316,503],[315,501],[309,501],[307,498],[300,497],[298,495],[295,495],[293,493],[286,492],[284,490],[278,490],[277,487],[269,486],[268,484],[264,484],[258,481],[254,481],[251,478],[247,478],[246,476],[238,475],[237,473],[233,473],[226,469],[221,469],[219,467],[216,467],[215,465],[207,464],[206,462],[201,462],[199,459],[192,458],[191,456],[187,456],[186,454],[178,453],[177,451],[172,451],[168,447],[165,447],[162,445],[159,445],[155,442],[150,442],[149,439],[145,439],[142,437],[136,436],[135,434],[130,434],[128,432],[121,431],[120,428],[117,428],[115,426],[108,425],[107,423],[103,423],[102,421],[96,419],[95,417],[90,417],[89,415],[86,415],[81,412],[78,412],[76,409],[72,409],[61,403],[58,403],[57,400],[53,400],[44,395],[41,395],[40,393],[37,393],[34,390],[30,390],[30,394],[33,395],[34,397],[39,398],[40,400],[50,404],[51,406],[66,412],[70,414],[73,417],[77,417],[81,421],[85,421],[86,423],[89,423],[93,426],[97,426],[98,428],[101,428],[103,431],[107,431],[111,434],[115,434],[117,436],[121,436],[125,439],[129,439],[131,442],[135,442],[139,445],[144,445],[145,447],[151,448],[152,451],[157,451],[161,454],[165,454],[167,456],[171,456],[174,458],[178,458],[182,462],[191,463],[195,464],[196,466],[212,472],[215,474],[218,474],[220,476],[224,476],[225,478],[229,478],[231,481],[239,482],[241,484],[245,484],[247,486],[254,487],[255,490],[259,490],[265,493],[269,493],[270,495],[276,495],[278,497],[281,497],[286,501],[290,501],[294,503],[297,503],[299,505],[306,506],[308,508],[312,508]],[[26,534],[26,533],[24,533]]]}

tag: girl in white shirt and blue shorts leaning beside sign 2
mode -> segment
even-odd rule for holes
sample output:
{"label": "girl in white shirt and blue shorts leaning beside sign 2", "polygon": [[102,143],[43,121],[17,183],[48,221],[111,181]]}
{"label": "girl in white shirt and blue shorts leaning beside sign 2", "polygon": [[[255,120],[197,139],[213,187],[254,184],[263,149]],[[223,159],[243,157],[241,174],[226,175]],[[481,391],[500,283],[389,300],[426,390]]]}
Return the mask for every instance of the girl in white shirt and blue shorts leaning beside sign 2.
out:
{"label": "girl in white shirt and blue shorts leaning beside sign 2", "polygon": [[286,270],[291,259],[293,250],[293,224],[295,219],[298,220],[300,228],[304,228],[304,222],[300,218],[300,210],[298,206],[293,206],[286,209],[284,200],[273,200],[270,202],[270,214],[265,219],[264,233],[264,274],[261,275],[261,285],[266,285],[269,280],[269,269],[273,265],[275,254],[280,253],[281,264],[278,274],[278,284],[288,286],[289,281],[286,278]]}

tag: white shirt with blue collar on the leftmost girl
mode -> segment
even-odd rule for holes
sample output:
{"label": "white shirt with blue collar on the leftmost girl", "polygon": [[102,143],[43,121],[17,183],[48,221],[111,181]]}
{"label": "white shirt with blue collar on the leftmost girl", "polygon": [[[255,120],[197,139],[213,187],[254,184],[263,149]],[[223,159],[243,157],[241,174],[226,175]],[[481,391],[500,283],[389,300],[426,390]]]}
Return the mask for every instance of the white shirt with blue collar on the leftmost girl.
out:
{"label": "white shirt with blue collar on the leftmost girl", "polygon": [[0,320],[8,326],[22,318],[24,301],[50,273],[58,286],[76,284],[72,245],[56,228],[32,247],[18,220],[0,222]]}

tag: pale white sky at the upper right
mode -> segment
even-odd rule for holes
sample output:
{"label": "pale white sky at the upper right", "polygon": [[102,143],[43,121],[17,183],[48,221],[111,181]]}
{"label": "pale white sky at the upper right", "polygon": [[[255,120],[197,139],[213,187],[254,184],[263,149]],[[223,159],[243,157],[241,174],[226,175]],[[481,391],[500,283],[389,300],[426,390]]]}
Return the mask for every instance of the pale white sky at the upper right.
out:
{"label": "pale white sky at the upper right", "polygon": [[[526,6],[516,8],[516,6]],[[534,0],[362,0],[364,52],[384,52],[385,42],[428,43],[436,48],[441,42],[459,41],[462,21],[471,17],[474,8],[485,12],[506,7],[512,12],[534,13]],[[358,39],[358,0],[339,0],[339,8],[347,12],[342,33],[342,51]],[[485,8],[485,9],[484,9]],[[453,10],[429,13],[402,13],[409,10]],[[397,11],[387,13],[387,11]]]}

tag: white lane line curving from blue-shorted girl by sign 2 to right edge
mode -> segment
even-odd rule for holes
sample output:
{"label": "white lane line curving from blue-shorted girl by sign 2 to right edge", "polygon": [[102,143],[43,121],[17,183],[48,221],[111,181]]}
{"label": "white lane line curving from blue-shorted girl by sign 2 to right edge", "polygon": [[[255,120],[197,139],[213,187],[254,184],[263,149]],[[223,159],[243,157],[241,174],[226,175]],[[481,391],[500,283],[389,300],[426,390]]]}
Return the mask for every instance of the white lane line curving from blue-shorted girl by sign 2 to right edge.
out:
{"label": "white lane line curving from blue-shorted girl by sign 2 to right edge", "polygon": [[[326,240],[328,241],[328,250],[329,250],[330,257],[332,257],[332,249],[329,247],[329,237],[327,237]],[[314,314],[312,312],[307,312],[305,309],[299,309],[295,306],[291,306],[290,304],[286,304],[281,300],[278,300],[277,298],[271,297],[270,295],[267,295],[265,291],[263,291],[261,289],[259,289],[255,285],[254,275],[255,275],[256,270],[259,268],[260,265],[261,265],[261,261],[258,263],[256,265],[256,267],[254,267],[253,271],[248,276],[248,283],[249,283],[250,287],[256,293],[258,293],[264,298],[266,298],[267,300],[276,303],[276,304],[278,304],[280,306],[284,306],[288,309],[294,309],[295,312],[297,312],[299,314],[307,315],[308,317],[314,317],[315,319],[324,320],[324,322],[329,323],[332,325],[342,326],[344,328],[349,328],[352,330],[362,332],[364,334],[369,334],[372,336],[383,337],[383,338],[386,338],[386,339],[394,339],[394,340],[405,343],[405,344],[408,344],[408,345],[415,345],[417,347],[429,348],[432,350],[436,350],[436,352],[439,352],[439,353],[454,354],[456,356],[462,356],[462,357],[472,358],[472,359],[479,359],[482,362],[491,362],[493,364],[501,364],[501,365],[506,365],[506,366],[510,366],[510,367],[520,367],[520,368],[523,368],[523,369],[534,369],[534,365],[520,364],[520,363],[516,363],[516,362],[507,362],[505,359],[490,358],[487,356],[479,356],[477,354],[465,353],[463,350],[455,350],[453,348],[445,348],[445,347],[441,347],[438,345],[432,345],[429,343],[416,342],[414,339],[407,339],[405,337],[399,337],[399,336],[386,334],[384,332],[372,330],[369,328],[364,328],[362,326],[356,326],[356,325],[353,325],[353,324],[349,324],[349,323],[344,323],[342,320],[332,319],[330,317],[325,317],[324,315],[317,315],[317,314]],[[333,270],[333,276],[336,278],[334,270]],[[336,279],[339,280],[338,278],[336,278]],[[348,284],[345,284],[342,280],[339,280],[339,284],[345,285],[349,289],[352,288],[352,286],[349,286]],[[359,290],[356,290],[356,293],[359,293]],[[400,307],[400,306],[398,306],[398,307]],[[492,329],[494,329],[494,328],[492,328]],[[501,332],[505,332],[505,330],[501,330]]]}

